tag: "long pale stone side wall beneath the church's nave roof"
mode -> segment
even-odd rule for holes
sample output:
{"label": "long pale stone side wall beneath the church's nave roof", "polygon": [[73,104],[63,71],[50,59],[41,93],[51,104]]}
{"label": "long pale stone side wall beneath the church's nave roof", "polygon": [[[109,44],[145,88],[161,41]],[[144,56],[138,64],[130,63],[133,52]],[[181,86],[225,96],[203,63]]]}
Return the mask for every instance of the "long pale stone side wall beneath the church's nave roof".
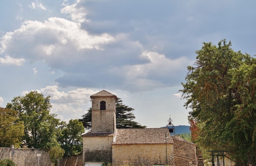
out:
{"label": "long pale stone side wall beneath the church's nave roof", "polygon": [[[114,166],[166,165],[166,144],[114,144],[112,157]],[[167,144],[167,161],[174,166],[173,144]]]}

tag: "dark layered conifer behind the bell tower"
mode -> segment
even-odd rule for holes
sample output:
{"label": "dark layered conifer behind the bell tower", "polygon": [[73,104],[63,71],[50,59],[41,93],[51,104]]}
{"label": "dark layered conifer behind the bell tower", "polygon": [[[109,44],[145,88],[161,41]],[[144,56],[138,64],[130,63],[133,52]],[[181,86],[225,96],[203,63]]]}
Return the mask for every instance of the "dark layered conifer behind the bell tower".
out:
{"label": "dark layered conifer behind the bell tower", "polygon": [[[116,128],[146,128],[138,122],[135,122],[135,116],[133,114],[134,108],[128,107],[123,104],[123,100],[117,98],[116,100]],[[92,127],[92,108],[89,108],[88,112],[82,115],[82,119],[79,119],[83,123],[86,129]]]}

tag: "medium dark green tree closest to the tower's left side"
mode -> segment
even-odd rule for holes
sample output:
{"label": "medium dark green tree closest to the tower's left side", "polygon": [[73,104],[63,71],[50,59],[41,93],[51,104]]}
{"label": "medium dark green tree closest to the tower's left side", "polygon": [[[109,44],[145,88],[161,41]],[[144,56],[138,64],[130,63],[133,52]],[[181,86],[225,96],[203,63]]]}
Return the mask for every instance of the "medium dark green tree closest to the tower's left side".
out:
{"label": "medium dark green tree closest to the tower's left side", "polygon": [[65,157],[82,152],[83,139],[81,135],[85,132],[82,122],[77,119],[69,120],[68,124],[62,121],[59,131],[57,140],[61,144],[61,148],[65,150]]}

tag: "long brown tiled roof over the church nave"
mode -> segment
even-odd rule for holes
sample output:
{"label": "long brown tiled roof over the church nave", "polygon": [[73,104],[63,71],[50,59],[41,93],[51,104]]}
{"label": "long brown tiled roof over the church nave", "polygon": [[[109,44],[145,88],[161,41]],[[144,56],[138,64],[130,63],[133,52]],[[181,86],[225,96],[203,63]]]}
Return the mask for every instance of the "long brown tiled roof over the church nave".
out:
{"label": "long brown tiled roof over the church nave", "polygon": [[167,128],[116,129],[113,144],[165,144],[165,140],[173,143]]}

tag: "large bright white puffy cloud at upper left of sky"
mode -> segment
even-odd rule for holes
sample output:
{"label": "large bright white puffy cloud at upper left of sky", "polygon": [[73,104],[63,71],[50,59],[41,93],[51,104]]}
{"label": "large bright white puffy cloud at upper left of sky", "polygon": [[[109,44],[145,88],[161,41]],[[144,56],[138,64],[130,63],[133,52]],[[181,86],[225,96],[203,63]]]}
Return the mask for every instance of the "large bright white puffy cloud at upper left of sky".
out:
{"label": "large bright white puffy cloud at upper left of sky", "polygon": [[19,52],[19,55],[41,60],[59,55],[63,59],[59,53],[69,47],[70,50],[100,50],[102,45],[114,40],[107,33],[89,35],[72,21],[51,17],[44,23],[25,21],[20,29],[7,32],[0,40],[0,53]]}

